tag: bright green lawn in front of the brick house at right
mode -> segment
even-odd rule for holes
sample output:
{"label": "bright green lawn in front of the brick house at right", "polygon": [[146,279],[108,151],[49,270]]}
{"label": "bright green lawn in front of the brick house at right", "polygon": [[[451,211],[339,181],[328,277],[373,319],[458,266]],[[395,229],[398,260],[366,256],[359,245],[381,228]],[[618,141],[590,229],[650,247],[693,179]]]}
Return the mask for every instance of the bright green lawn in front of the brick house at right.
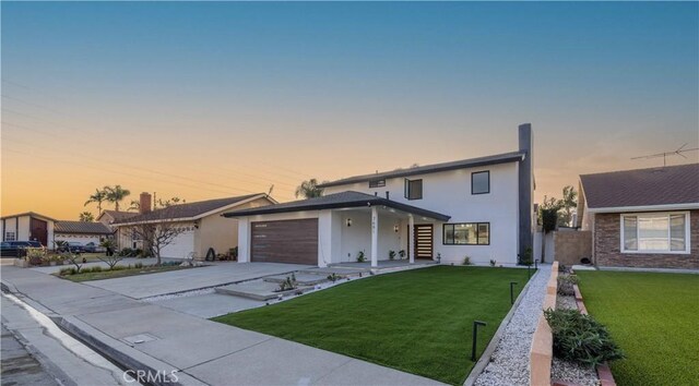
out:
{"label": "bright green lawn in front of the brick house at right", "polygon": [[699,275],[577,274],[588,311],[627,355],[612,363],[617,384],[699,383]]}

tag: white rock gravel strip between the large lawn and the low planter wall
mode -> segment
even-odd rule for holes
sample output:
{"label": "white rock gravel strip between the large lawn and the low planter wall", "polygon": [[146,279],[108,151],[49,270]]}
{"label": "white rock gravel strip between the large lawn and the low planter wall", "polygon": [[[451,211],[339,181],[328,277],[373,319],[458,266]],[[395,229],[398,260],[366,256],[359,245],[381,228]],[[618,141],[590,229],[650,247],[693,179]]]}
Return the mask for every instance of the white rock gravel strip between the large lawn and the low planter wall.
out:
{"label": "white rock gravel strip between the large lawn and the low planter wall", "polygon": [[538,268],[490,357],[490,363],[476,378],[475,385],[529,385],[529,351],[550,277],[550,265],[540,265]]}

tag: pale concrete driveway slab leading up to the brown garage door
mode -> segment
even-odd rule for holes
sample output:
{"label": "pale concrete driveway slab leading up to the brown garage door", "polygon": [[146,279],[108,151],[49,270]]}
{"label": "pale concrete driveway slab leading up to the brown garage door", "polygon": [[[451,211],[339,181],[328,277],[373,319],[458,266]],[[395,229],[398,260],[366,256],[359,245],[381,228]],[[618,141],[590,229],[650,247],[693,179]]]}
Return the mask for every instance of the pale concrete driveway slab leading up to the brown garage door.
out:
{"label": "pale concrete driveway slab leading up to the brown garage door", "polygon": [[311,267],[309,265],[279,263],[210,262],[206,264],[212,265],[161,274],[84,281],[83,284],[133,299],[144,299],[200,288],[217,287],[229,282],[252,280],[264,276],[286,274]]}

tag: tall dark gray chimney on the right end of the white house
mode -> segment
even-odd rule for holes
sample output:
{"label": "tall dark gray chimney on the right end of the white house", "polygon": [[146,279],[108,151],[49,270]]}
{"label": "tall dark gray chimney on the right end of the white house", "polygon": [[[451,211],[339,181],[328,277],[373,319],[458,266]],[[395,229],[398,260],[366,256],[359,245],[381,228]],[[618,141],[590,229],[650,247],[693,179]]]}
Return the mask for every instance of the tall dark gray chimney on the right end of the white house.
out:
{"label": "tall dark gray chimney on the right end of the white house", "polygon": [[532,135],[532,124],[523,123],[519,126],[519,147],[524,154],[524,160],[519,167],[519,254],[524,258],[528,249],[534,250],[534,138]]}

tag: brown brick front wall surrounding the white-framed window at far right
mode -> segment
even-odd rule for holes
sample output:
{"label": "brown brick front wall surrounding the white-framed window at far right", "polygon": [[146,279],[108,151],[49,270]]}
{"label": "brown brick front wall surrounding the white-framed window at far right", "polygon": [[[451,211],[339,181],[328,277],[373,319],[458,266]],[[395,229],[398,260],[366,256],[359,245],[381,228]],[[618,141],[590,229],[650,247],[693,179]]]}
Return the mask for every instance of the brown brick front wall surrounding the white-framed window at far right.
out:
{"label": "brown brick front wall surrounding the white-framed window at far right", "polygon": [[620,252],[620,218],[618,213],[594,216],[594,260],[599,266],[642,268],[699,269],[699,210],[689,212],[689,245],[687,254],[647,254]]}

